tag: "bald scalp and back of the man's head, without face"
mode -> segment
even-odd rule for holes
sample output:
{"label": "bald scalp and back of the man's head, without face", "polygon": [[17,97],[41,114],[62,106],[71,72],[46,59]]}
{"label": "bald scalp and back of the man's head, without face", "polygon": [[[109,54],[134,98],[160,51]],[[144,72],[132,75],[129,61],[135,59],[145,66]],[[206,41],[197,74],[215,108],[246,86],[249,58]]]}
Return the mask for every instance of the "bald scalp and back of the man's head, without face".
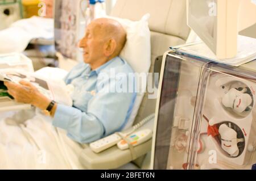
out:
{"label": "bald scalp and back of the man's head, without face", "polygon": [[103,40],[115,40],[117,47],[112,57],[118,56],[126,43],[126,32],[122,25],[116,20],[109,18],[95,19],[91,24],[95,24],[96,31]]}

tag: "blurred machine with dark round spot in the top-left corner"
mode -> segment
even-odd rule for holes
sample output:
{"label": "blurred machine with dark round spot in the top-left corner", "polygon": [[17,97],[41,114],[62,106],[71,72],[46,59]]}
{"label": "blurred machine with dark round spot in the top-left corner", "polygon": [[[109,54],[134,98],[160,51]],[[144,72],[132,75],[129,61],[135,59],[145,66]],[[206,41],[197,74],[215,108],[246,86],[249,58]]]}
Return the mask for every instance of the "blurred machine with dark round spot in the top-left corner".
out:
{"label": "blurred machine with dark round spot in the top-left corner", "polygon": [[21,0],[0,0],[0,30],[8,28],[11,23],[22,17]]}

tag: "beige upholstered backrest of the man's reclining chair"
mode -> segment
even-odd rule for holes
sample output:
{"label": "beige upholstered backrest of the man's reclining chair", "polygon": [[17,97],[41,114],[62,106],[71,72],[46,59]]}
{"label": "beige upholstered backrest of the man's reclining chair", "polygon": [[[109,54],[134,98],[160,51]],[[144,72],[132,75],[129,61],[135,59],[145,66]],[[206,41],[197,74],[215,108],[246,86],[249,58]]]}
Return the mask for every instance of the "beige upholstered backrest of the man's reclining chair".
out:
{"label": "beige upholstered backrest of the man's reclining chair", "polygon": [[[151,68],[154,70],[155,58],[174,45],[185,43],[189,35],[186,22],[185,0],[117,0],[112,16],[139,20],[150,13]],[[145,94],[135,123],[155,112],[156,99],[147,99]]]}

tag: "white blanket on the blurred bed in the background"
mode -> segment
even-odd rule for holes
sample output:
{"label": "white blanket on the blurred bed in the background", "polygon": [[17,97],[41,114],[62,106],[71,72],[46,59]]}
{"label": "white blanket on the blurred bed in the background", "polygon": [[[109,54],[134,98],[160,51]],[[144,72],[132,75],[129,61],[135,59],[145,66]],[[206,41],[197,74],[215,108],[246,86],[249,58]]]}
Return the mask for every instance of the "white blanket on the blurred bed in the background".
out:
{"label": "white blanket on the blurred bed in the background", "polygon": [[53,39],[53,19],[32,16],[11,24],[0,31],[0,53],[23,52],[30,40]]}

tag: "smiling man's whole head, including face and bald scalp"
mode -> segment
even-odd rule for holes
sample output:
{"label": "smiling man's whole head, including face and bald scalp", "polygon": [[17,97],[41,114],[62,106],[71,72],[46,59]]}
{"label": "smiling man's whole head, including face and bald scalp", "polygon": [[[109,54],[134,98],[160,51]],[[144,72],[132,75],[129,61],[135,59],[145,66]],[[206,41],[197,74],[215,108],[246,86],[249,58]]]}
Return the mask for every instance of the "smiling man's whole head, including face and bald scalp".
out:
{"label": "smiling man's whole head, including face and bald scalp", "polygon": [[84,62],[92,70],[118,56],[126,42],[126,32],[117,21],[108,18],[93,20],[80,40]]}

